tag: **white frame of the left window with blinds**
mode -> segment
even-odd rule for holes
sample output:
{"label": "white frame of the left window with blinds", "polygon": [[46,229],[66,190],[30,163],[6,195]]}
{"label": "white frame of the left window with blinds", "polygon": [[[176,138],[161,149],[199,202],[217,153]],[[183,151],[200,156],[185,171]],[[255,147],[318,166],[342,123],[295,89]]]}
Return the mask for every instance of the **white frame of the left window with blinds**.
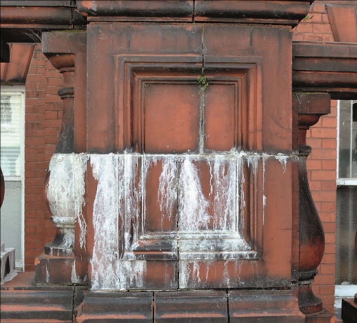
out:
{"label": "white frame of the left window with blinds", "polygon": [[19,94],[22,96],[21,100],[21,119],[20,119],[20,176],[6,176],[4,174],[5,182],[21,182],[21,254],[22,259],[17,259],[15,267],[24,270],[25,265],[25,100],[26,90],[25,85],[2,85],[1,93],[8,93],[10,95]]}

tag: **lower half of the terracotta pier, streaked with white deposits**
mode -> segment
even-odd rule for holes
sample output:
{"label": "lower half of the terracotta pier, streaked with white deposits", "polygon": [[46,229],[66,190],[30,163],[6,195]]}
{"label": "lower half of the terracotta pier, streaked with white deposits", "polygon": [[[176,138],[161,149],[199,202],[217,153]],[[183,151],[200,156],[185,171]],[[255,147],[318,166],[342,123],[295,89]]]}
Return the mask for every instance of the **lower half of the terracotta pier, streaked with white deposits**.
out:
{"label": "lower half of the terracotta pier, streaked with white deposits", "polygon": [[[217,154],[214,159],[170,156],[173,169],[169,173],[172,177],[166,178],[166,181],[170,181],[165,185],[168,191],[174,193],[171,197],[173,203],[169,202],[171,210],[175,209],[173,205],[177,199],[175,189],[178,189],[179,199],[179,232],[173,230],[169,231],[170,234],[153,230],[161,226],[161,210],[158,212],[159,207],[155,204],[160,195],[160,177],[169,165],[167,162],[170,158],[145,158],[149,161],[151,158],[151,164],[147,165],[149,167],[143,166],[141,158],[134,154],[90,157],[90,163],[95,167],[95,178],[98,179],[93,179],[92,183],[91,175],[87,176],[88,198],[95,200],[87,204],[87,247],[90,253],[95,250],[95,254],[90,254],[90,273],[95,273],[92,288],[177,288],[178,280],[180,288],[271,287],[278,283],[286,284],[290,280],[288,263],[291,250],[282,243],[291,239],[291,219],[286,216],[291,212],[291,200],[286,191],[291,188],[285,183],[291,174],[289,156],[238,156],[235,153],[232,156]],[[179,170],[175,170],[175,167]],[[145,218],[140,219],[143,209],[137,200],[137,196],[142,194],[139,194],[139,188],[144,187],[139,178],[146,168],[148,173],[145,177],[149,179],[146,182],[149,185],[146,186],[146,199],[149,196],[151,210],[156,209],[147,223]],[[131,174],[131,181],[123,180],[125,173]],[[134,186],[130,186],[132,181],[135,182]],[[117,183],[124,182],[129,186],[125,186],[126,189],[120,186],[119,190]],[[170,186],[171,182],[173,187]],[[137,193],[126,195],[124,199],[123,191]],[[277,199],[277,191],[281,191],[281,195],[278,195],[283,196],[281,199]],[[238,201],[238,196],[244,202],[241,199]],[[116,202],[107,203],[106,198]],[[192,198],[193,204],[190,203]],[[105,209],[92,209],[98,208],[98,205]],[[132,210],[128,207],[135,209],[123,212]],[[229,212],[225,214],[226,211]],[[95,215],[96,220],[90,215]],[[106,222],[102,223],[103,219]],[[263,226],[263,221],[270,223],[268,227],[274,230]],[[174,223],[170,224],[171,228],[174,228]],[[145,227],[146,224],[150,230]],[[179,252],[175,245],[177,234],[180,238]],[[104,236],[106,240],[93,239]],[[99,250],[102,245],[105,248]],[[263,249],[265,245],[267,247]],[[118,246],[119,254],[115,256],[111,250]],[[174,261],[177,257],[181,259],[179,265]],[[260,260],[261,257],[264,261]],[[277,263],[281,265],[278,274]],[[176,276],[176,266],[179,266],[179,278]],[[222,272],[225,274],[221,275]],[[254,281],[252,275],[261,278]],[[116,278],[111,279],[112,276]]]}

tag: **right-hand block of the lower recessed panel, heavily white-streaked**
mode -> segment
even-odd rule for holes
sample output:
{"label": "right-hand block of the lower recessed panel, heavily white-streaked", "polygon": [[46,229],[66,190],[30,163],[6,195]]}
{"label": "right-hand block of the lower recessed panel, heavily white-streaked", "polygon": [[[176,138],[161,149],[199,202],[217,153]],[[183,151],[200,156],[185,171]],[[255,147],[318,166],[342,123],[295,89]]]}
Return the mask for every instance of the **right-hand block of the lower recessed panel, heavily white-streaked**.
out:
{"label": "right-hand block of the lower recessed panel, heavily white-streaked", "polygon": [[[216,156],[216,159],[186,158],[180,166],[179,231],[223,233],[235,230],[239,194],[237,163]],[[194,203],[197,204],[192,204],[192,196],[196,197]]]}

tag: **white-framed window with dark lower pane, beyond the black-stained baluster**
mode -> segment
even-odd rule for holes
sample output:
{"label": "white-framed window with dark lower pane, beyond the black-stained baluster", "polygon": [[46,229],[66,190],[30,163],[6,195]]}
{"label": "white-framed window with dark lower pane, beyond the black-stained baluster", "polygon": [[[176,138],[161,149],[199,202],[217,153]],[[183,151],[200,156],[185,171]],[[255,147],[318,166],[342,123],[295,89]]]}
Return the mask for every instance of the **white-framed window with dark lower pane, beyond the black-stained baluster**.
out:
{"label": "white-framed window with dark lower pane, beyond the black-stained baluster", "polygon": [[357,101],[338,103],[336,288],[335,310],[341,298],[353,297],[357,289],[354,236],[357,229]]}

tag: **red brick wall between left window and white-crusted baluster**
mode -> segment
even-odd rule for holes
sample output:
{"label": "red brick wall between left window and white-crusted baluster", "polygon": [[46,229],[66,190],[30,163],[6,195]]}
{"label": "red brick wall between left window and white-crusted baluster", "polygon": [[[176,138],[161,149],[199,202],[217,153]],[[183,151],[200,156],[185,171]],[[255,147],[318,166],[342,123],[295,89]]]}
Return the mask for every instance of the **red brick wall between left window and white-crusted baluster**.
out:
{"label": "red brick wall between left window and white-crusted baluster", "polygon": [[44,199],[44,179],[58,140],[61,74],[38,44],[26,79],[25,102],[25,270],[35,270],[35,257],[53,240],[54,225]]}

